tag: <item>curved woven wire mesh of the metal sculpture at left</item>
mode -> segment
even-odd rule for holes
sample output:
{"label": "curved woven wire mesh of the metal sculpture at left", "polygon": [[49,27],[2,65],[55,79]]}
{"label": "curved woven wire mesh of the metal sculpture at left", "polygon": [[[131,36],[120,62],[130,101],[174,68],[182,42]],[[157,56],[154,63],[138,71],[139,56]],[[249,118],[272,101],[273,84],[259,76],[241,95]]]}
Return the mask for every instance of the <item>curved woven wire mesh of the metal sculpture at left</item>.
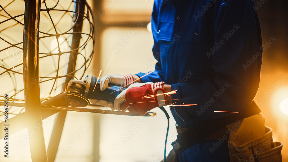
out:
{"label": "curved woven wire mesh of the metal sculpture at left", "polygon": [[[24,103],[23,86],[23,0],[0,3],[0,102],[5,94],[9,102]],[[70,49],[72,43],[75,0],[43,0],[39,22],[39,81],[41,101],[62,92],[65,77],[82,79],[91,63],[94,49],[94,24],[92,9],[86,3],[83,29],[77,33],[80,45]],[[79,6],[79,5],[78,5]],[[79,11],[79,10],[78,10]],[[77,20],[78,16],[74,16]],[[75,32],[74,32],[75,33]],[[70,52],[77,53],[75,71],[67,74]],[[34,83],[31,83],[31,86]],[[29,88],[29,85],[28,85]],[[11,104],[10,104],[11,105]],[[0,122],[4,120],[4,108],[0,108]],[[24,107],[9,106],[9,114],[18,115]]]}

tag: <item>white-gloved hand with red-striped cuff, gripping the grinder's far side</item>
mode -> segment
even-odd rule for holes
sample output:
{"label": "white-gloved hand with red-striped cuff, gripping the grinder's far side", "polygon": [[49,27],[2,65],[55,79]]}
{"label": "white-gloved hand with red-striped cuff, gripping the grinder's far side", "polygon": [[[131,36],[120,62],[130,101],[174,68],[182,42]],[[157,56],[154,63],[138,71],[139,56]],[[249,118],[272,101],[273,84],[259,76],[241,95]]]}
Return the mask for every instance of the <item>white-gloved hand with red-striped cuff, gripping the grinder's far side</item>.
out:
{"label": "white-gloved hand with red-striped cuff, gripping the grinder's far side", "polygon": [[104,75],[100,80],[100,90],[104,91],[107,88],[108,84],[119,85],[121,87],[128,87],[130,84],[134,82],[134,77],[132,74],[112,74],[112,75]]}

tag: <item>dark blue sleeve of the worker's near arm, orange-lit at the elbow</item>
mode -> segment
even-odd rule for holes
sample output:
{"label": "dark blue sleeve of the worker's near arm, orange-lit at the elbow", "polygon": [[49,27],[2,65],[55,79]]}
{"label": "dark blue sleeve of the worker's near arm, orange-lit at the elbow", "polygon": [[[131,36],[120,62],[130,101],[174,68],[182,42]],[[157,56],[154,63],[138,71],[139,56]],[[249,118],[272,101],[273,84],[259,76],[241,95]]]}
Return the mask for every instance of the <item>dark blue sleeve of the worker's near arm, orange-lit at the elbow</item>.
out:
{"label": "dark blue sleeve of the worker's near arm, orange-lit at the elbow", "polygon": [[[178,89],[172,99],[180,98],[183,104],[197,104],[185,108],[190,118],[224,117],[231,113],[214,111],[239,112],[253,101],[259,87],[262,62],[261,31],[253,6],[252,0],[223,0],[219,9],[215,9],[215,49],[206,53],[212,57],[215,77],[204,82],[172,85],[172,90]],[[176,112],[184,113],[183,107],[175,106]]]}

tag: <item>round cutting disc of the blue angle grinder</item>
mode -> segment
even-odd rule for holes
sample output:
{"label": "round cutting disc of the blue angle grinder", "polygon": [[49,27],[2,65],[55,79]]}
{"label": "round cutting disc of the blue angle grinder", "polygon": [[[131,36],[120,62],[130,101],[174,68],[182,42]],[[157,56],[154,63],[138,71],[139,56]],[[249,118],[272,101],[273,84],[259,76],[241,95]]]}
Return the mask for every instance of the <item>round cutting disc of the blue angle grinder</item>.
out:
{"label": "round cutting disc of the blue angle grinder", "polygon": [[67,92],[68,100],[72,107],[86,107],[90,104],[89,100],[79,94]]}

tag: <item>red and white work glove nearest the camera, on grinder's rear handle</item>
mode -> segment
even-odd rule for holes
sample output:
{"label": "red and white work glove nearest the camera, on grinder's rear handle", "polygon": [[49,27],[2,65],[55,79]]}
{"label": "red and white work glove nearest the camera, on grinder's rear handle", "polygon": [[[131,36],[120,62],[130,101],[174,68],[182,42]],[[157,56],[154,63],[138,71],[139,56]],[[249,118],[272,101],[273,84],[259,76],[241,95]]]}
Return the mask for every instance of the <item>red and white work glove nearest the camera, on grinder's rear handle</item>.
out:
{"label": "red and white work glove nearest the camera, on grinder's rear handle", "polygon": [[165,106],[167,101],[164,84],[164,82],[133,83],[116,97],[114,108],[118,111],[137,112],[143,116],[153,108]]}

